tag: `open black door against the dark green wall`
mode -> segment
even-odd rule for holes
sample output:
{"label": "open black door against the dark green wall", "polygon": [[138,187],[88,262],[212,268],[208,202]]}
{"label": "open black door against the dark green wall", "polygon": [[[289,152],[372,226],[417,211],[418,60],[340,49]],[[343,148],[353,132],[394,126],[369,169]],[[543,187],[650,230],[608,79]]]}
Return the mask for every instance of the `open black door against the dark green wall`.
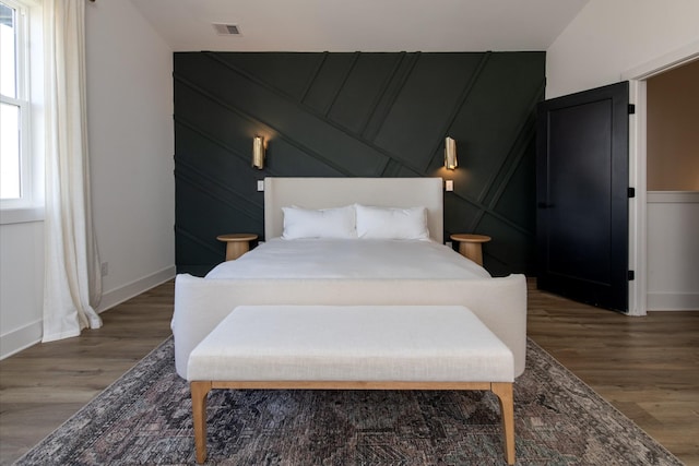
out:
{"label": "open black door against the dark green wall", "polygon": [[545,100],[536,142],[538,288],[628,310],[629,85]]}

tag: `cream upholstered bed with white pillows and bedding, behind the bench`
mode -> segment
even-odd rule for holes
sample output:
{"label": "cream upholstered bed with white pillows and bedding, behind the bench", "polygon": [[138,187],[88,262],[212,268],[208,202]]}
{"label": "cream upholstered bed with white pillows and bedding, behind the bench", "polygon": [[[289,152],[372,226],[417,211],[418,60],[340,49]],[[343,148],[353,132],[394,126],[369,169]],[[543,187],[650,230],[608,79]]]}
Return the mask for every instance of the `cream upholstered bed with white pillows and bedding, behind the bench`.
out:
{"label": "cream upholstered bed with white pillows and bedding, behind the bench", "polygon": [[491,277],[443,246],[442,206],[441,178],[265,178],[266,241],[205,277],[176,277],[178,374],[187,378],[191,350],[241,304],[461,304],[511,349],[520,375],[525,278]]}

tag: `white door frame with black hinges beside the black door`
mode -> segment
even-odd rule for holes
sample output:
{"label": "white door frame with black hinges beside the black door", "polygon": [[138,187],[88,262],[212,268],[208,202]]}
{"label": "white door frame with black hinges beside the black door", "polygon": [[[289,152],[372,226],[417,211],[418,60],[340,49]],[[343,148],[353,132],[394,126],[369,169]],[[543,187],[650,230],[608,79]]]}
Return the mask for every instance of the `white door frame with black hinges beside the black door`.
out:
{"label": "white door frame with black hinges beside the black door", "polygon": [[629,126],[629,186],[636,188],[629,204],[629,268],[636,272],[629,282],[629,315],[648,312],[647,80],[697,59],[699,40],[621,73],[621,81],[629,81],[629,99],[636,106]]}

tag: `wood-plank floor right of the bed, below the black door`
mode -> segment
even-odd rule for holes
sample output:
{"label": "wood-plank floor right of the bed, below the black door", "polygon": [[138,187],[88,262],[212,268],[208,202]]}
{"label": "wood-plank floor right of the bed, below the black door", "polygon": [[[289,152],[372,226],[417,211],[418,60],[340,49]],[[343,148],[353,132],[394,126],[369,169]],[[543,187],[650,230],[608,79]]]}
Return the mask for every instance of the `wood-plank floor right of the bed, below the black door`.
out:
{"label": "wood-plank floor right of the bed, below the black door", "polygon": [[533,289],[528,334],[687,465],[699,465],[699,311],[631,318]]}

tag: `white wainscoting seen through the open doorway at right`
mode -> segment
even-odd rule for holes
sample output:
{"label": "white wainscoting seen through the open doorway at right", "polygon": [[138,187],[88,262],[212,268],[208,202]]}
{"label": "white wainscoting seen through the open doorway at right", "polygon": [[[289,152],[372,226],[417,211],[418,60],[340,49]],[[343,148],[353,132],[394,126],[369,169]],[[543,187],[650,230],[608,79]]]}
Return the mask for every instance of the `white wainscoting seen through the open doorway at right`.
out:
{"label": "white wainscoting seen through the open doorway at right", "polygon": [[699,310],[699,191],[648,192],[648,310]]}

